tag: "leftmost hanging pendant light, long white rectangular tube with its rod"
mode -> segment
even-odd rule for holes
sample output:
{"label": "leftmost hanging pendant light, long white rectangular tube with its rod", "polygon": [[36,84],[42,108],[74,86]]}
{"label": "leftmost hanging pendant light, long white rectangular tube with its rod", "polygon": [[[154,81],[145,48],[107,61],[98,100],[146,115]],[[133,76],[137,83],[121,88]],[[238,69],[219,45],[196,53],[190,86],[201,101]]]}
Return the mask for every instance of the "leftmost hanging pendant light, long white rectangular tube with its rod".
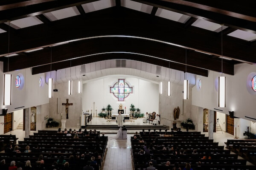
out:
{"label": "leftmost hanging pendant light, long white rectangular tube with its rod", "polygon": [[3,75],[3,105],[12,105],[12,74],[9,74],[10,22],[8,31],[8,63],[7,74]]}

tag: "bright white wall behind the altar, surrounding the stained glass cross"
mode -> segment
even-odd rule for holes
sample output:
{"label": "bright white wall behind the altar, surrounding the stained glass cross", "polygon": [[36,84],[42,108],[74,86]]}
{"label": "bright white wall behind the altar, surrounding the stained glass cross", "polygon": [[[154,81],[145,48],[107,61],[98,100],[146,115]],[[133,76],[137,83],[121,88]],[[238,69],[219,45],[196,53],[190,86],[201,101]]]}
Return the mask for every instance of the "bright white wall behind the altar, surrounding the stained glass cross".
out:
{"label": "bright white wall behind the altar, surrounding the stained glass cross", "polygon": [[[113,94],[110,93],[112,87],[118,79],[125,79],[130,87],[133,87],[133,93],[125,98],[124,102],[119,102]],[[158,84],[148,82],[135,77],[125,75],[115,75],[112,77],[104,77],[83,84],[83,111],[93,110],[93,102],[95,102],[95,110],[101,112],[103,107],[108,104],[114,109],[112,113],[118,112],[118,106],[122,103],[126,107],[126,113],[130,113],[129,108],[131,103],[135,108],[140,108],[141,113],[155,111],[158,113]]]}

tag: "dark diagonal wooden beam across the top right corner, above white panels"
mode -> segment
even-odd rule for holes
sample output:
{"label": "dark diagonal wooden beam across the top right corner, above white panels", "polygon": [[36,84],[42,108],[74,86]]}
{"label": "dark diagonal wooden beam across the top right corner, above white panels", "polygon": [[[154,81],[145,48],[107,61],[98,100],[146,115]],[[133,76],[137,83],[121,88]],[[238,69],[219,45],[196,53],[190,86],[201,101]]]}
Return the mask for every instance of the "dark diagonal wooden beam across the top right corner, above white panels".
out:
{"label": "dark diagonal wooden beam across the top right corner, above white panels", "polygon": [[[239,10],[240,12],[230,12],[225,10],[229,9],[230,3],[222,3],[223,6],[219,8],[213,8],[211,6],[204,6],[204,2],[191,3],[186,0],[133,0],[136,2],[144,3],[150,6],[155,6],[158,8],[167,9],[170,11],[175,11],[180,14],[186,14],[191,17],[198,19],[208,20],[214,23],[224,24],[225,26],[241,29],[244,31],[250,31],[256,34],[256,16],[255,16],[255,6],[250,6],[249,4],[243,3],[241,8],[244,10]],[[240,8],[240,7],[239,7]],[[251,11],[247,15],[244,11]],[[253,12],[252,12],[253,11]],[[245,14],[244,14],[245,13]]]}

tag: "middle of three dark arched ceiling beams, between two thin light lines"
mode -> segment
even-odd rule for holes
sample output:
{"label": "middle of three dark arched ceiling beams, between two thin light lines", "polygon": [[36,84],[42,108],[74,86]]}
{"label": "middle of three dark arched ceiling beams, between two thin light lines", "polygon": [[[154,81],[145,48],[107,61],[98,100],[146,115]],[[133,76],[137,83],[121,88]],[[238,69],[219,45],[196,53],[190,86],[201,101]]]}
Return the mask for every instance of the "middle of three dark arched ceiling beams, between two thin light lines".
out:
{"label": "middle of three dark arched ceiling beams, between two thin light lines", "polygon": [[[100,46],[100,48],[99,48]],[[86,48],[84,48],[86,47]],[[150,47],[150,50],[149,48]],[[207,54],[194,53],[189,54],[187,62],[185,60],[185,49],[153,42],[148,40],[134,40],[126,37],[108,37],[83,40],[76,43],[69,43],[52,47],[52,62],[62,62],[76,57],[84,57],[92,54],[102,54],[108,52],[131,52],[149,57],[152,62],[160,59],[162,62],[171,61],[179,65],[189,65],[197,70],[221,71],[221,61],[207,57]],[[97,58],[97,55],[94,56]],[[33,58],[33,60],[31,60]],[[85,57],[84,59],[87,59]],[[122,58],[119,58],[122,59]],[[128,59],[128,58],[124,58]],[[137,60],[137,59],[135,59]],[[200,62],[199,62],[200,61]],[[50,63],[49,50],[35,51],[29,56],[12,57],[9,59],[9,71],[35,67]],[[7,63],[4,65],[6,66]],[[166,66],[168,67],[168,65]],[[226,74],[234,74],[234,66],[229,62],[223,62],[223,72]],[[179,68],[175,68],[180,70]],[[4,67],[6,71],[6,67]],[[199,73],[198,73],[199,74]]]}

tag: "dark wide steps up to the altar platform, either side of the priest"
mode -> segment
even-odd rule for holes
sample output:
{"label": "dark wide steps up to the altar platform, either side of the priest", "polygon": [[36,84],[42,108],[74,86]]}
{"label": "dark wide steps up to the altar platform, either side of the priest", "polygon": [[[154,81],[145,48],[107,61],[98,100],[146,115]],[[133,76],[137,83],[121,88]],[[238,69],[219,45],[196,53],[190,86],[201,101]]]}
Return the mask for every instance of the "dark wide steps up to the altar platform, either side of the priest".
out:
{"label": "dark wide steps up to the altar platform, either side of the priest", "polygon": [[[166,125],[125,125],[127,130],[147,130],[147,129],[168,129],[169,126]],[[117,125],[87,125],[87,126],[81,126],[81,128],[86,128],[86,129],[118,129]]]}

